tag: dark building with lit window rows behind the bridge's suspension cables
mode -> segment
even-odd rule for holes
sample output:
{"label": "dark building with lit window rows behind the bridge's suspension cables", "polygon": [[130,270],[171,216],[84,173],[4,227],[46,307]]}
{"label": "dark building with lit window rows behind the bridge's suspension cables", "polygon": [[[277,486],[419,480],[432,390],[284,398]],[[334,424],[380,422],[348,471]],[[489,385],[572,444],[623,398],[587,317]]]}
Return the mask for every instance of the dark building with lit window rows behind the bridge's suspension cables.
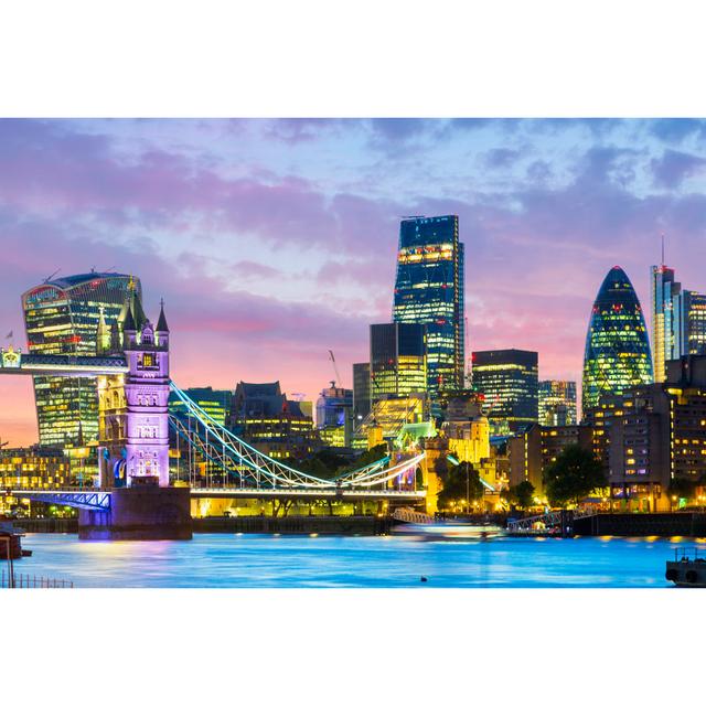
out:
{"label": "dark building with lit window rows behind the bridge's suspension cables", "polygon": [[287,399],[279,382],[239,382],[233,394],[229,426],[258,450],[276,459],[301,459],[321,448],[313,419]]}

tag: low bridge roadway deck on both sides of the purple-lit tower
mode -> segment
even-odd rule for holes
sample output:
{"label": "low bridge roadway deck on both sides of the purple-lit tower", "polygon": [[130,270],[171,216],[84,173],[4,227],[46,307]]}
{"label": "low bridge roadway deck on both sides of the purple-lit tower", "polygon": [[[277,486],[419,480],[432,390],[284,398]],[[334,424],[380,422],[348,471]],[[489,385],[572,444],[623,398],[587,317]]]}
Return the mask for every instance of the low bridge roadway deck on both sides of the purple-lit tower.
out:
{"label": "low bridge roadway deck on both sides of the purple-lit tower", "polygon": [[[99,489],[62,488],[56,490],[13,490],[4,492],[15,498],[67,505],[96,512],[110,511],[110,491]],[[291,489],[291,488],[192,488],[191,496],[253,500],[404,500],[419,501],[427,495],[425,490],[343,490],[343,489]]]}

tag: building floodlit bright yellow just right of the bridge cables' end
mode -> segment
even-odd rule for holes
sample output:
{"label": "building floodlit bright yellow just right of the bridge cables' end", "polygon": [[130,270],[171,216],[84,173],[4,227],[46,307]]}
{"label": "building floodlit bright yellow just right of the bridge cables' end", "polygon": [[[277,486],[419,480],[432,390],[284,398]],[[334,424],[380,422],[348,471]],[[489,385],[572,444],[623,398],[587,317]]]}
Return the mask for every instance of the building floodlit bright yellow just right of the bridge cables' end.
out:
{"label": "building floodlit bright yellow just right of the bridge cables' end", "polygon": [[443,424],[449,452],[460,462],[479,466],[490,459],[490,425],[483,416],[482,396],[470,389],[442,395]]}

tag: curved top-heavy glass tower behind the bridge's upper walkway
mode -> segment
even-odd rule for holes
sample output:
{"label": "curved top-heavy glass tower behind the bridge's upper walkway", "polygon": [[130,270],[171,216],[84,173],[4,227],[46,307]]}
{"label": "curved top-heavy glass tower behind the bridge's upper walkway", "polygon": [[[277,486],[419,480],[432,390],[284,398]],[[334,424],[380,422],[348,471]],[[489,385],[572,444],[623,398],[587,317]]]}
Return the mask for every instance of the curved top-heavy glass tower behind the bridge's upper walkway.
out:
{"label": "curved top-heavy glass tower behind the bridge's upper walkway", "polygon": [[[89,272],[46,281],[22,295],[30,353],[95,355],[98,324],[110,330],[130,308],[145,320],[139,279]],[[101,321],[103,315],[103,321]],[[79,447],[98,438],[96,381],[34,376],[41,446]]]}

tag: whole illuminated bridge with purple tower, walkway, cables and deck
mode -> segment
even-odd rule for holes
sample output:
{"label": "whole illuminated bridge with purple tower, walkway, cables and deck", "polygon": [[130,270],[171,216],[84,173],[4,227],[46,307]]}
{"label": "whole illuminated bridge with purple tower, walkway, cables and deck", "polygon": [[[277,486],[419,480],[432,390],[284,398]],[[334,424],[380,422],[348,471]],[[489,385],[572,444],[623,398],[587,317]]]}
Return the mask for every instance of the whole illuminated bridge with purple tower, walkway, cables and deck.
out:
{"label": "whole illuminated bridge with purple tower, walkway, cables and deck", "polygon": [[[426,473],[424,452],[387,456],[324,479],[263,453],[213,419],[171,379],[163,304],[156,327],[149,320],[138,327],[129,309],[121,336],[101,325],[94,356],[36,355],[12,346],[0,352],[0,374],[97,379],[98,486],[12,491],[18,498],[78,507],[79,524],[100,527],[119,514],[131,526],[146,518],[183,520],[191,498],[424,501],[426,491],[417,488],[417,471]],[[184,417],[169,414],[171,392],[184,404]],[[193,475],[188,488],[170,485],[170,428],[190,453],[216,469],[220,483],[212,474],[205,485]]]}

